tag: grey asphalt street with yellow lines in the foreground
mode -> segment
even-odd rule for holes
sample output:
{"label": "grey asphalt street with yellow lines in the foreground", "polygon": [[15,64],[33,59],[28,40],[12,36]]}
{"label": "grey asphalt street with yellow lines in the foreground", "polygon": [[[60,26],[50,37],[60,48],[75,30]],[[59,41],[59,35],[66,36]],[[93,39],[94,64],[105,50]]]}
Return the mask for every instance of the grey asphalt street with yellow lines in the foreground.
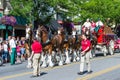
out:
{"label": "grey asphalt street with yellow lines in the foreground", "polygon": [[22,64],[0,66],[0,80],[120,80],[120,53],[98,56],[91,59],[93,73],[78,75],[79,63],[75,62],[53,68],[41,68],[41,76],[32,78],[32,69],[26,68],[27,61]]}

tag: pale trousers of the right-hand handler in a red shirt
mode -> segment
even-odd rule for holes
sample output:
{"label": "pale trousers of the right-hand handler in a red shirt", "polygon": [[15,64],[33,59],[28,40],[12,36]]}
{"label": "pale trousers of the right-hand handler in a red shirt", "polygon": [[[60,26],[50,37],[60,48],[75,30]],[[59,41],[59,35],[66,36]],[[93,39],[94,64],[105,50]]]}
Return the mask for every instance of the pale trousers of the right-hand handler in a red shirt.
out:
{"label": "pale trousers of the right-hand handler in a red shirt", "polygon": [[86,65],[87,65],[87,71],[89,72],[91,70],[91,67],[90,67],[90,54],[91,54],[91,50],[86,52],[86,54],[84,56],[81,55],[80,72],[84,71],[85,62],[86,62]]}

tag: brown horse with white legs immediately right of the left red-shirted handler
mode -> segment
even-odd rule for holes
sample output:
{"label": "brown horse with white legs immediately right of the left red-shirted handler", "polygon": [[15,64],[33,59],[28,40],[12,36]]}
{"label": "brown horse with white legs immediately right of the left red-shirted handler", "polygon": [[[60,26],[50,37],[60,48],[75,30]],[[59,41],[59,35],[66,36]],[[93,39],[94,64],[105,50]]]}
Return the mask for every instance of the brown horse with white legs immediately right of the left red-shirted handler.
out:
{"label": "brown horse with white legs immediately right of the left red-shirted handler", "polygon": [[37,34],[36,36],[40,39],[41,43],[42,43],[42,47],[43,47],[43,53],[42,53],[42,67],[46,67],[46,57],[48,56],[48,65],[50,67],[53,67],[54,64],[52,62],[52,44],[49,41],[49,36],[48,36],[48,31],[44,26],[39,26],[38,30],[37,30]]}

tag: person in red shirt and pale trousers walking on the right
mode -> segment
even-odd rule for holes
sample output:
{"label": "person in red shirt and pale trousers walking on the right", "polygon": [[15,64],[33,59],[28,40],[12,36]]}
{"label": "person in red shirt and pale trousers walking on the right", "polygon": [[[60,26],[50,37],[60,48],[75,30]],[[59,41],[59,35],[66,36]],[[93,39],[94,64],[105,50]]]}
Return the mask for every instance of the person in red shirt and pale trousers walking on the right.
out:
{"label": "person in red shirt and pale trousers walking on the right", "polygon": [[87,39],[85,34],[81,35],[82,41],[81,41],[81,61],[80,61],[80,72],[78,73],[79,75],[83,75],[84,72],[84,63],[86,61],[87,68],[88,68],[88,74],[91,73],[91,68],[90,68],[90,54],[91,54],[91,42],[90,40]]}

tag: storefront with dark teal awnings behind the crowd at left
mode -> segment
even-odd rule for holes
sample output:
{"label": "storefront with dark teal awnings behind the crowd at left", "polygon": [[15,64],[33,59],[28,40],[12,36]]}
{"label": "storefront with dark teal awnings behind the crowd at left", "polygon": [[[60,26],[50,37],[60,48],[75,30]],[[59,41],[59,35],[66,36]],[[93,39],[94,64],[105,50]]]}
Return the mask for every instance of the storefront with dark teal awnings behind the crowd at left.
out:
{"label": "storefront with dark teal awnings behind the crowd at left", "polygon": [[[4,15],[8,15],[11,10],[11,5],[9,0],[0,0],[0,19]],[[0,41],[5,40],[8,36],[15,35],[16,37],[24,37],[25,36],[25,20],[21,17],[15,17],[17,21],[17,25],[15,26],[7,26],[0,22]],[[24,22],[24,23],[23,23]],[[7,28],[7,29],[6,29]]]}

